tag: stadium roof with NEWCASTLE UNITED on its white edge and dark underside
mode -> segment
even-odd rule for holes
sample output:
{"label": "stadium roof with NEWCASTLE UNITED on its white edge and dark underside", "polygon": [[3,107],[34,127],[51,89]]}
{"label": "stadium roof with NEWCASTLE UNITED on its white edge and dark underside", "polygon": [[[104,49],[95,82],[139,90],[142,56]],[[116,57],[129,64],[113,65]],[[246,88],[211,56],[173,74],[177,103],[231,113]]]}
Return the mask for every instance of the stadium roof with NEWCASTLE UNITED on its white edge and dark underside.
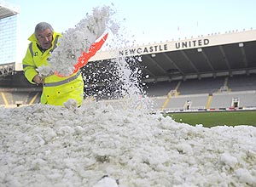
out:
{"label": "stadium roof with NEWCASTLE UNITED on its white edge and dark underside", "polygon": [[230,31],[102,51],[90,61],[108,65],[109,59],[118,56],[140,56],[143,77],[147,77],[143,82],[160,82],[256,73],[255,51],[256,30]]}

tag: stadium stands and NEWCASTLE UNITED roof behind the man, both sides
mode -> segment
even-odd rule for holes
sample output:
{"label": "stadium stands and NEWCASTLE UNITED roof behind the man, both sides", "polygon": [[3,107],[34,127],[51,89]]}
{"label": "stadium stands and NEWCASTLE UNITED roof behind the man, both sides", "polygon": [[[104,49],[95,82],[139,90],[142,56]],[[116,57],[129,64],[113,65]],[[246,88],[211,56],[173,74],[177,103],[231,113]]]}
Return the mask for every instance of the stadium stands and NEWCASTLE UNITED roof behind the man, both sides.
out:
{"label": "stadium stands and NEWCASTLE UNITED roof behind the man, both sides", "polygon": [[[2,28],[9,28],[4,24],[16,26],[17,22],[10,20],[15,20],[17,14],[18,11],[2,6]],[[113,80],[114,75],[108,72],[95,75],[95,72],[112,69],[111,59],[133,57],[131,67],[142,70],[140,81],[148,97],[154,100],[155,111],[254,110],[255,36],[253,29],[228,31],[98,52],[82,69],[86,77],[97,80],[86,80],[84,95],[113,99],[110,96],[114,85],[110,87],[112,82],[104,80]],[[11,47],[6,45],[13,45],[13,41],[2,42],[7,52],[1,51],[0,105],[14,107],[38,103],[42,88],[26,81],[22,69],[15,64],[15,57],[6,58],[11,56],[6,54]]]}

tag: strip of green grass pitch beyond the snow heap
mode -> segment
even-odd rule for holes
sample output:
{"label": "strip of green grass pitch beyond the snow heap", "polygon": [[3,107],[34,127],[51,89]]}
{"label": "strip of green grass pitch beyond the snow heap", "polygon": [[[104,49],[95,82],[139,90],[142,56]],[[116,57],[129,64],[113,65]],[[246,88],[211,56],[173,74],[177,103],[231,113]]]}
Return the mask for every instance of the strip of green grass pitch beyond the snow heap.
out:
{"label": "strip of green grass pitch beyond the snow heap", "polygon": [[249,125],[256,127],[256,111],[212,111],[168,113],[176,122],[190,125],[202,124],[204,127]]}

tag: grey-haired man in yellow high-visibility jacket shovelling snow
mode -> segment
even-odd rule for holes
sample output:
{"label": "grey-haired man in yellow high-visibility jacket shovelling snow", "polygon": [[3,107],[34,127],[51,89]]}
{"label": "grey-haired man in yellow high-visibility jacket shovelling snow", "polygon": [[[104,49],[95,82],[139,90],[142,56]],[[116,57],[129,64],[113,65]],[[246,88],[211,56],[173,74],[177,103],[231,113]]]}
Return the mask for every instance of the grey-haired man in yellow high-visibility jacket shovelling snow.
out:
{"label": "grey-haired man in yellow high-visibility jacket shovelling snow", "polygon": [[61,33],[53,30],[49,23],[41,22],[28,38],[31,43],[22,61],[26,79],[33,84],[43,84],[41,103],[49,105],[64,105],[68,99],[73,99],[77,105],[82,105],[84,99],[84,81],[81,72],[73,73],[70,77],[40,77],[37,68],[48,65],[50,53],[57,47]]}

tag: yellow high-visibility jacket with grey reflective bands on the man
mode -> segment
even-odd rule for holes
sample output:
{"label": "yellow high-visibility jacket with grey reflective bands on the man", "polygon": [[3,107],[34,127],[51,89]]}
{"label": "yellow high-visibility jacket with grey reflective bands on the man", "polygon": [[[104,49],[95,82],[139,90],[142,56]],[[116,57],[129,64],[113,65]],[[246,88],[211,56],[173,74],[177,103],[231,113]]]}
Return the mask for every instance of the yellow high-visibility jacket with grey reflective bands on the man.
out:
{"label": "yellow high-visibility jacket with grey reflective bands on the man", "polygon": [[[31,43],[26,50],[26,56],[22,60],[23,71],[26,79],[32,81],[38,74],[36,69],[41,65],[48,65],[49,54],[57,47],[60,33],[54,32],[52,47],[44,53],[38,48],[38,40],[34,34],[28,38]],[[46,77],[43,84],[41,103],[49,105],[63,105],[68,99],[75,99],[78,105],[82,105],[84,99],[84,81],[80,71],[70,77],[57,77],[55,75]]]}

